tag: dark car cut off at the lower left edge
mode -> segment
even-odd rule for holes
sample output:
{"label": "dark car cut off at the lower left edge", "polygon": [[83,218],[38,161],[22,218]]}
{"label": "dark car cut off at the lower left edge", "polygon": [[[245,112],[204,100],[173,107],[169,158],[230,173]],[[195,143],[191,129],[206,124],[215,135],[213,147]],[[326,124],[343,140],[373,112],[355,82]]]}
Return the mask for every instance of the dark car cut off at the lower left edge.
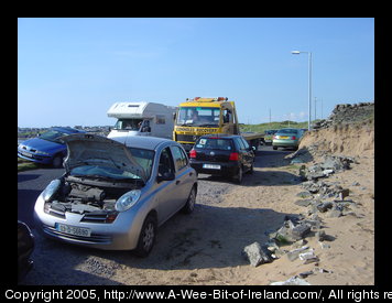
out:
{"label": "dark car cut off at the lower left edge", "polygon": [[30,255],[34,250],[34,236],[25,223],[18,220],[18,281],[32,269]]}

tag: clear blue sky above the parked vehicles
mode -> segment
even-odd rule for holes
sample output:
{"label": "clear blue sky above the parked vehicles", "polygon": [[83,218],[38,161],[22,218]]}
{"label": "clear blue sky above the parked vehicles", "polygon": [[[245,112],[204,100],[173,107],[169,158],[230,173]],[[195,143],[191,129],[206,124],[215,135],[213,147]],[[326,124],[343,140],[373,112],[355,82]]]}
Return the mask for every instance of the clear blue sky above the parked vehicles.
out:
{"label": "clear blue sky above the parked vehicles", "polygon": [[307,121],[308,53],[292,51],[312,53],[312,119],[374,100],[372,18],[20,18],[18,127],[194,97],[228,97],[243,123]]}

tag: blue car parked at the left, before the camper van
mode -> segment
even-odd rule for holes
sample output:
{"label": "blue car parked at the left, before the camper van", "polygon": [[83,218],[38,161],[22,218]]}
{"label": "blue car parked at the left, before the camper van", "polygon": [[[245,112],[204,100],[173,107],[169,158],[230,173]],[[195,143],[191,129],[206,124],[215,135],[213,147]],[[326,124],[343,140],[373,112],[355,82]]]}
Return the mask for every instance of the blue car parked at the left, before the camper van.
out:
{"label": "blue car parked at the left, before the camper van", "polygon": [[62,167],[63,159],[67,155],[67,147],[58,138],[79,132],[85,131],[73,128],[51,128],[40,137],[20,143],[18,156],[41,164],[52,164],[56,169]]}

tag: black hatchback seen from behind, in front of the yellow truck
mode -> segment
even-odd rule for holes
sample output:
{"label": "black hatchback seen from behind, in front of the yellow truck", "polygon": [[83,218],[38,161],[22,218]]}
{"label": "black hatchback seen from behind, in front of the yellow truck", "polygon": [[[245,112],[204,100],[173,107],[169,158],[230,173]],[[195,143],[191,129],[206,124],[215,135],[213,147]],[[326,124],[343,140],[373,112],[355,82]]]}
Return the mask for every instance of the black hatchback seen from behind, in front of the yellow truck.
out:
{"label": "black hatchback seen from behind, in front of the yellow truck", "polygon": [[231,176],[242,182],[242,174],[253,172],[254,151],[241,136],[202,136],[189,152],[197,173]]}

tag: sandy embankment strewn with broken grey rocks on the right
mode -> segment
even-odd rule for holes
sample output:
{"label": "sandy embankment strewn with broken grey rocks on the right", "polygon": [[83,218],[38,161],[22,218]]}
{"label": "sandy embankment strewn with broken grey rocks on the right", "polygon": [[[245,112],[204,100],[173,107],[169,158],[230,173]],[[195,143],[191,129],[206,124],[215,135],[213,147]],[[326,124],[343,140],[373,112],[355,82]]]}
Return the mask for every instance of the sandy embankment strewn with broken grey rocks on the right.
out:
{"label": "sandy embankment strewn with broken grey rocks on the right", "polygon": [[[333,277],[338,271],[335,277],[340,275],[341,267],[347,267],[342,260],[350,259],[358,274],[367,272],[361,283],[372,283],[374,195],[362,180],[368,173],[373,187],[373,167],[366,167],[373,166],[373,156],[374,104],[336,106],[327,120],[319,121],[305,136],[300,149],[286,156],[292,165],[300,166],[302,190],[293,203],[302,212],[286,216],[281,227],[268,232],[269,239],[263,245],[255,241],[243,249],[250,264],[258,267],[277,259],[284,259],[282,263],[297,262],[303,266],[297,268],[303,269],[271,284],[306,285],[312,283],[304,279],[315,274],[318,274],[313,281],[316,284],[326,283],[320,273]],[[364,234],[364,241],[353,239]],[[358,250],[362,256],[358,256]],[[335,282],[341,283],[340,279]]]}

